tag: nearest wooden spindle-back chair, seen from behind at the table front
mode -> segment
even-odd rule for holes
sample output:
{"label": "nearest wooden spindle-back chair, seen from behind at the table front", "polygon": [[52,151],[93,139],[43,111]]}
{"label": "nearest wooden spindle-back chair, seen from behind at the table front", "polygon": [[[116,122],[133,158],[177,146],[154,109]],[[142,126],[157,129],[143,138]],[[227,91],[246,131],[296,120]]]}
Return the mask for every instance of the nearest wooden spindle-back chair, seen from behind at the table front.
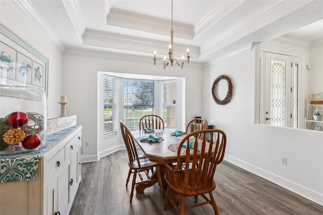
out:
{"label": "nearest wooden spindle-back chair, seen from behind at the table front", "polygon": [[[180,214],[185,214],[186,209],[197,207],[203,204],[211,204],[215,214],[219,215],[218,206],[213,198],[212,191],[216,189],[216,183],[213,181],[216,167],[223,160],[227,137],[219,129],[198,130],[189,133],[179,144],[179,149],[184,143],[189,145],[189,137],[201,133],[211,133],[209,142],[204,139],[194,139],[193,152],[186,150],[185,154],[177,152],[177,165],[166,164],[165,180],[168,184],[164,210],[167,210],[168,201],[174,205]],[[192,140],[191,140],[192,141]],[[200,152],[198,152],[198,148]],[[204,159],[200,159],[203,157]],[[181,169],[181,163],[184,162],[186,169]],[[205,195],[209,194],[209,198]],[[181,207],[179,207],[179,195],[182,196]],[[197,196],[201,195],[205,201],[197,203]],[[186,206],[186,198],[195,196],[195,203]]]}

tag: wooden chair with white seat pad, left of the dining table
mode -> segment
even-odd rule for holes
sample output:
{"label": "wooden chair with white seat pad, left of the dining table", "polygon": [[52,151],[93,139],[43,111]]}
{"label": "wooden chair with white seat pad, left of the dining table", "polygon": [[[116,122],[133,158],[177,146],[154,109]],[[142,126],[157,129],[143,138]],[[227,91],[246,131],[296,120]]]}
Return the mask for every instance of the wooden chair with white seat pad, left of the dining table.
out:
{"label": "wooden chair with white seat pad, left of the dining table", "polygon": [[[147,187],[152,186],[156,182],[158,182],[160,186],[160,192],[161,194],[164,195],[164,188],[163,185],[161,184],[161,176],[160,176],[160,171],[159,171],[159,164],[150,162],[148,157],[145,155],[138,156],[136,145],[135,145],[135,140],[130,133],[129,129],[125,124],[123,124],[120,121],[120,128],[121,128],[121,133],[123,140],[125,142],[127,152],[128,152],[128,157],[129,157],[129,173],[128,173],[128,178],[126,182],[126,186],[128,185],[130,175],[133,173],[133,179],[132,179],[132,186],[131,186],[131,193],[130,193],[130,203],[132,202],[132,197],[133,197],[133,191],[136,185],[136,191],[137,192],[143,192],[143,190]],[[157,179],[151,179],[149,176],[149,170],[153,172],[153,168],[156,170],[156,175]],[[141,176],[141,172],[145,172],[148,180],[143,180],[143,177]],[[140,182],[136,182],[136,177],[137,174],[140,177]]]}

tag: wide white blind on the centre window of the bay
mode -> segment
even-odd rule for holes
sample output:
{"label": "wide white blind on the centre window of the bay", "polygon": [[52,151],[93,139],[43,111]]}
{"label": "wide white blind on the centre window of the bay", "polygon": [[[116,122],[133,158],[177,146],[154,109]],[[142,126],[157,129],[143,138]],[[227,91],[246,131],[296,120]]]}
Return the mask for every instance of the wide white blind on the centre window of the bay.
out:
{"label": "wide white blind on the centre window of the bay", "polygon": [[124,80],[124,119],[129,130],[139,129],[139,120],[154,113],[154,81]]}

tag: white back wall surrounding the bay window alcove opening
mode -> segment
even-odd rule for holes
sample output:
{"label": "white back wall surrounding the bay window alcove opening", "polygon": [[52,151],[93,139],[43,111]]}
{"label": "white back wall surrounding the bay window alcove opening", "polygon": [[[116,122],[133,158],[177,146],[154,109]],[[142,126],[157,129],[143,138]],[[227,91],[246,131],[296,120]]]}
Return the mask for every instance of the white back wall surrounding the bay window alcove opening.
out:
{"label": "white back wall surrounding the bay window alcove opening", "polygon": [[[84,56],[86,54],[84,53]],[[186,79],[186,122],[194,116],[202,115],[202,75],[201,69],[186,65],[184,69],[178,66],[167,67],[161,65],[136,62],[121,62],[101,58],[83,56],[64,56],[64,93],[69,99],[67,115],[77,115],[78,123],[83,126],[83,160],[98,160],[100,152],[113,152],[123,145],[121,136],[98,139],[97,121],[97,73],[116,72],[143,75],[160,75],[183,77]],[[118,127],[118,132],[120,131]],[[89,147],[85,143],[89,142]],[[100,150],[98,149],[100,145]],[[101,147],[102,146],[102,147]],[[102,149],[102,150],[101,150]],[[102,153],[101,153],[102,155]]]}

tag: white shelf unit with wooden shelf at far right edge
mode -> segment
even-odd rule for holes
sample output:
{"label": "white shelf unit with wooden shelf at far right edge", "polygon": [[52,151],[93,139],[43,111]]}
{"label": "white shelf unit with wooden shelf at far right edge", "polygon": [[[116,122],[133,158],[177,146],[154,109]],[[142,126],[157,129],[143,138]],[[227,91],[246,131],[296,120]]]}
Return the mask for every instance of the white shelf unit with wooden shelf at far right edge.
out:
{"label": "white shelf unit with wooden shelf at far right edge", "polygon": [[[314,102],[313,102],[314,101]],[[305,128],[311,130],[323,130],[323,118],[320,121],[314,121],[313,113],[317,109],[320,115],[323,115],[323,92],[311,94],[307,98],[307,116],[305,121]]]}

